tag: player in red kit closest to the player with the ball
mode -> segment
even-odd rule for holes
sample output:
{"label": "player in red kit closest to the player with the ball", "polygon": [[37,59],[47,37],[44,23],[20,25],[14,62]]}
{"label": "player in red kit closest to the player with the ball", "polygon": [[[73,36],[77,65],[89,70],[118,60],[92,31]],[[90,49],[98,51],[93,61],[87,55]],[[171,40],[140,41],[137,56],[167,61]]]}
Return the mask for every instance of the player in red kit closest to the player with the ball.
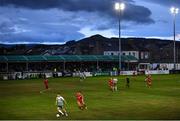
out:
{"label": "player in red kit closest to the player with the ball", "polygon": [[87,109],[87,106],[84,102],[84,96],[82,95],[80,91],[76,93],[76,100],[77,100],[79,109],[81,110]]}

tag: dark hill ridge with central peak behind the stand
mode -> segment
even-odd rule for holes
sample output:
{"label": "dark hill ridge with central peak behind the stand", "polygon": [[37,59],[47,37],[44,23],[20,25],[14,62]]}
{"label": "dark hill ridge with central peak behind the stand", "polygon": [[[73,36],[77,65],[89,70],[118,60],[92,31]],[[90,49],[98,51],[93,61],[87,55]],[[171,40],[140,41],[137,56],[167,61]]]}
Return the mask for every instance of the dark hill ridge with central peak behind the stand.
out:
{"label": "dark hill ridge with central peak behind the stand", "polygon": [[[148,51],[150,62],[173,60],[173,41],[145,38],[122,38],[124,51]],[[94,35],[79,41],[68,41],[62,45],[3,45],[0,55],[102,55],[104,51],[118,51],[119,39]],[[177,61],[180,58],[180,42],[176,41]]]}

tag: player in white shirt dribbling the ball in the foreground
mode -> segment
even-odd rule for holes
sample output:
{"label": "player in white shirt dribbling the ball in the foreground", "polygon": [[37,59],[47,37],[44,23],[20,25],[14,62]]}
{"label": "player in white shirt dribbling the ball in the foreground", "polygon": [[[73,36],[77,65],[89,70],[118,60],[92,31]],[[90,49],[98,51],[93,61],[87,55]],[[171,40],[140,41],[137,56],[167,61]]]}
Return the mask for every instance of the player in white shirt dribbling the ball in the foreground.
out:
{"label": "player in white shirt dribbling the ball in the foreground", "polygon": [[57,117],[59,116],[59,114],[68,116],[64,104],[66,104],[65,99],[61,95],[58,94],[56,97],[56,105],[57,105],[57,111],[58,111]]}

